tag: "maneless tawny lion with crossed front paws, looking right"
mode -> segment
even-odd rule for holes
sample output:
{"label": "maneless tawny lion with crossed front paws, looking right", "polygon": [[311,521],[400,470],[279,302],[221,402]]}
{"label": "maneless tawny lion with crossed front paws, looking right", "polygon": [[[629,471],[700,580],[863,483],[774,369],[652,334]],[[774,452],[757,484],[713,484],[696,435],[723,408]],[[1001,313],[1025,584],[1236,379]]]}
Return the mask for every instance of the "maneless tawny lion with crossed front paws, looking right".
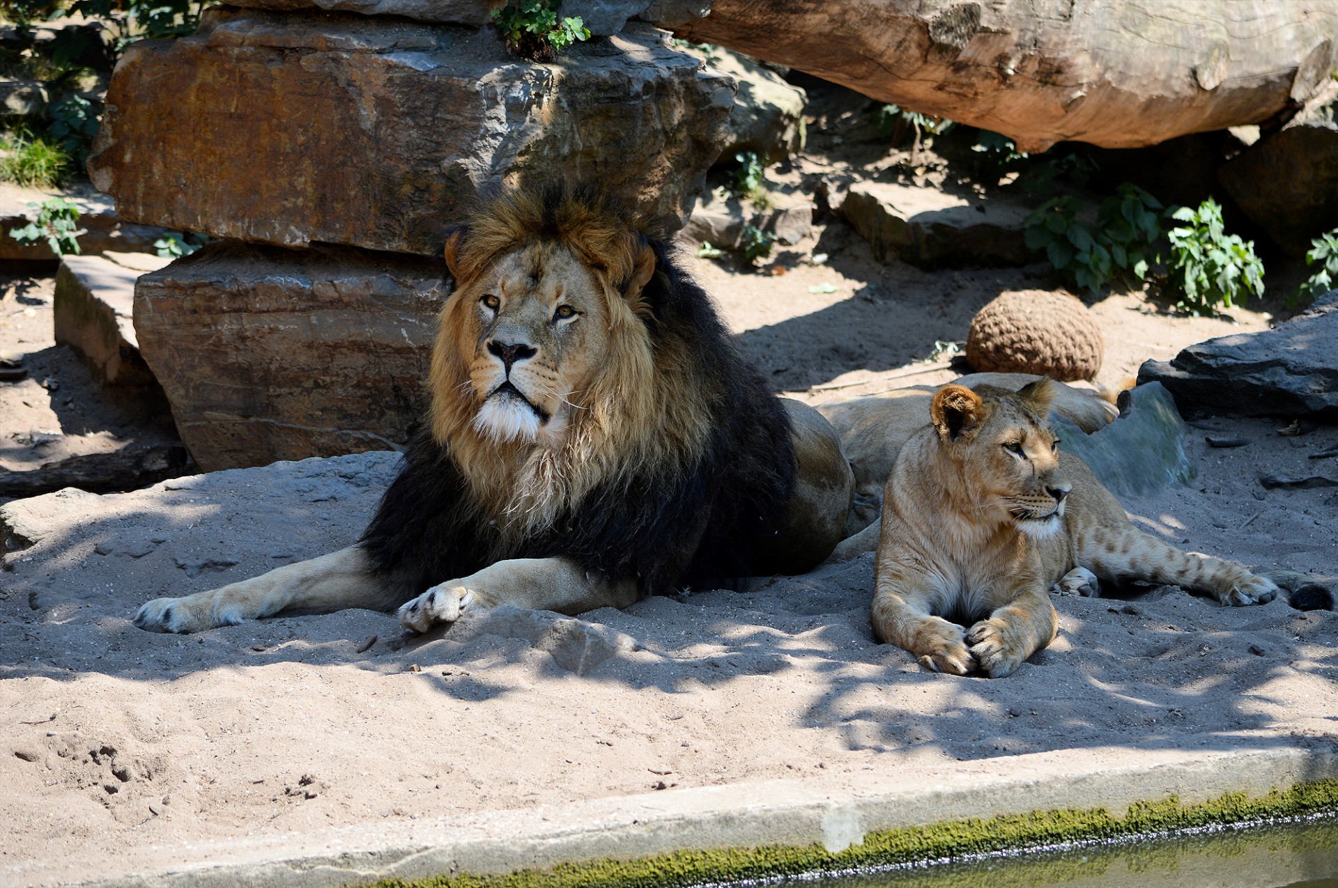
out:
{"label": "maneless tawny lion with crossed front paws, looking right", "polygon": [[1238,564],[1135,528],[1092,469],[1058,449],[1042,419],[1053,396],[1048,378],[1020,392],[945,385],[931,424],[896,456],[883,491],[874,631],[926,669],[1010,674],[1054,641],[1052,586],[1096,595],[1098,579],[1151,580],[1223,604],[1278,594]]}

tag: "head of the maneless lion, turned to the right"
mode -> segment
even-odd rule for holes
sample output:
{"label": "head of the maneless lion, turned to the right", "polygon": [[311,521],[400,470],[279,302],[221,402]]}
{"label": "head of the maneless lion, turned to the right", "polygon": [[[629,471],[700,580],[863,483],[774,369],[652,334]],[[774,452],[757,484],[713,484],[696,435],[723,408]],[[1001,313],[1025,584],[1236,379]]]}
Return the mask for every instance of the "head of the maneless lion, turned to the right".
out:
{"label": "head of the maneless lion, turned to the right", "polygon": [[1060,468],[1058,439],[1042,419],[1050,397],[1049,380],[1017,393],[947,385],[930,407],[942,447],[975,487],[982,518],[1012,522],[1037,538],[1060,530],[1072,489]]}

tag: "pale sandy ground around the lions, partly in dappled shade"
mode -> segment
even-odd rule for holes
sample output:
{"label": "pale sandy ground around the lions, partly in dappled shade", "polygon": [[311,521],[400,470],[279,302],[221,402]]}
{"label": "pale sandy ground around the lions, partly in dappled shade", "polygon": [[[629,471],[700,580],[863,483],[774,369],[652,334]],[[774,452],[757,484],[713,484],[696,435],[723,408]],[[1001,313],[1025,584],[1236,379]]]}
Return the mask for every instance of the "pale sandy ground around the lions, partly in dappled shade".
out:
{"label": "pale sandy ground around the lions, partly in dappled shade", "polygon": [[[950,378],[911,362],[935,340],[965,338],[995,293],[1044,285],[1041,269],[884,267],[858,239],[819,234],[846,239],[826,265],[793,261],[783,275],[697,266],[776,388],[808,400]],[[824,282],[836,292],[809,293]],[[1267,322],[1251,312],[1171,317],[1129,294],[1094,310],[1108,385],[1148,357]],[[33,337],[33,350],[59,352]],[[0,385],[0,435],[62,423],[58,395],[32,380]],[[29,396],[36,413],[5,408]],[[115,433],[111,419],[71,437]],[[1333,459],[1307,459],[1338,443],[1338,429],[1288,437],[1279,423],[1202,425],[1187,444],[1195,484],[1128,502],[1139,523],[1259,568],[1338,575],[1335,491],[1256,480],[1338,475]],[[1250,444],[1212,449],[1212,431]],[[8,464],[31,464],[15,445]],[[776,777],[859,789],[1032,752],[1136,758],[1333,746],[1338,733],[1333,613],[1283,600],[1223,608],[1169,588],[1057,600],[1060,638],[1014,677],[953,678],[874,642],[867,556],[581,621],[500,608],[427,637],[368,611],[194,637],[128,622],[146,599],[351,543],[396,459],[277,464],[23,506],[35,542],[8,552],[0,572],[0,884],[114,876],[169,865],[181,843],[381,818]]]}

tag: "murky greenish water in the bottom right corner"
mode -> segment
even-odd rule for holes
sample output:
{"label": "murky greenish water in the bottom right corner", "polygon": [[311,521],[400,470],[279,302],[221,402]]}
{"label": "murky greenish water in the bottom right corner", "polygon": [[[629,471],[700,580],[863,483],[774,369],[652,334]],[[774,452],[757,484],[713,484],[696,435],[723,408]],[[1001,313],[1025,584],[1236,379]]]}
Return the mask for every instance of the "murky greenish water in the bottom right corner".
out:
{"label": "murky greenish water in the bottom right corner", "polygon": [[1338,888],[1338,817],[788,883],[812,888]]}

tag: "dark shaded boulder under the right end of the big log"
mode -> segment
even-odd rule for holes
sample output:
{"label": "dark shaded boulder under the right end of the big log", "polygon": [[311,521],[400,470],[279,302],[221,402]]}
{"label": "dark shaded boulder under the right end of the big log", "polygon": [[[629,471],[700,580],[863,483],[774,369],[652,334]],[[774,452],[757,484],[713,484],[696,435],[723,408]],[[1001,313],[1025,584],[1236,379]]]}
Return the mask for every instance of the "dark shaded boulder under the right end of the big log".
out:
{"label": "dark shaded boulder under the right end of the big log", "polygon": [[1338,123],[1322,106],[1254,143],[1218,173],[1250,219],[1293,255],[1338,227]]}

